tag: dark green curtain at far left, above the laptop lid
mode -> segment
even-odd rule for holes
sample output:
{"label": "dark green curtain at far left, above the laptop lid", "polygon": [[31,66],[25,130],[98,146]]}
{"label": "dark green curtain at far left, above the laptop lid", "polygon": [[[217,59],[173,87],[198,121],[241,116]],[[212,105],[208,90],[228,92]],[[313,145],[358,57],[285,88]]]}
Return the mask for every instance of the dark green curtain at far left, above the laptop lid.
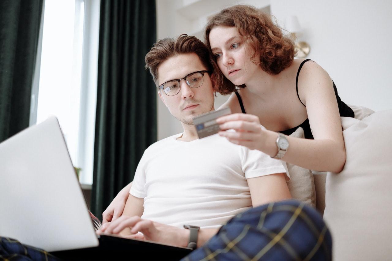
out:
{"label": "dark green curtain at far left, above the laptop lid", "polygon": [[0,142],[29,127],[43,0],[0,0]]}

